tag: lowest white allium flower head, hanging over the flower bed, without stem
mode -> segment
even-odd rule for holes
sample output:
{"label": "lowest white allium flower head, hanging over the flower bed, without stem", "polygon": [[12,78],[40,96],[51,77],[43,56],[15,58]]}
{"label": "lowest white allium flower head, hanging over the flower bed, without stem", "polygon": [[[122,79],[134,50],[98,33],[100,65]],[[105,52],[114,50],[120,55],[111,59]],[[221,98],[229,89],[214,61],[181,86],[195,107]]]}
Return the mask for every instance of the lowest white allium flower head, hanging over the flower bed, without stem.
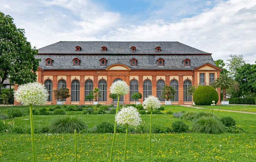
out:
{"label": "lowest white allium flower head, hanging over the flower bed, without stem", "polygon": [[131,125],[138,126],[140,125],[140,121],[141,121],[140,113],[133,106],[122,108],[116,114],[115,119],[117,124],[120,124],[120,125],[128,124],[130,126]]}

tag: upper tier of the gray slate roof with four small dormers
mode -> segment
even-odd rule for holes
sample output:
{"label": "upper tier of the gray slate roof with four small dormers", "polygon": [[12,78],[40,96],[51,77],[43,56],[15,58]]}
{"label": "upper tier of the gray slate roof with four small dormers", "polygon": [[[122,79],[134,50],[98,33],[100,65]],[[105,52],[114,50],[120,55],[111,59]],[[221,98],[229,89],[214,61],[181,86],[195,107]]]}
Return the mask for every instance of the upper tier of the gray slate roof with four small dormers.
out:
{"label": "upper tier of the gray slate roof with four small dormers", "polygon": [[[76,51],[76,46],[81,51]],[[107,47],[106,52],[101,47]],[[136,47],[131,52],[131,47]],[[156,52],[155,47],[161,47],[161,52]],[[211,54],[187,46],[180,42],[72,42],[61,41],[38,49],[38,54]]]}

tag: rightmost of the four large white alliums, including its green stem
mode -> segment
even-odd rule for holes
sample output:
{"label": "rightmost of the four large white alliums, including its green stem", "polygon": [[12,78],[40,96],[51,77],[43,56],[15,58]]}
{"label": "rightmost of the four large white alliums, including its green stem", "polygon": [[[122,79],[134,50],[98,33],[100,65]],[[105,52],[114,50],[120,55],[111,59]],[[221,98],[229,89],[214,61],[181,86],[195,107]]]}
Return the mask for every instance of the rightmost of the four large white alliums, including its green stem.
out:
{"label": "rightmost of the four large white alliums, including its green stem", "polygon": [[150,154],[151,154],[151,127],[152,127],[152,111],[159,108],[161,106],[160,101],[155,96],[149,96],[145,98],[143,102],[143,108],[146,111],[150,111],[150,133],[149,133],[149,162],[150,162]]}

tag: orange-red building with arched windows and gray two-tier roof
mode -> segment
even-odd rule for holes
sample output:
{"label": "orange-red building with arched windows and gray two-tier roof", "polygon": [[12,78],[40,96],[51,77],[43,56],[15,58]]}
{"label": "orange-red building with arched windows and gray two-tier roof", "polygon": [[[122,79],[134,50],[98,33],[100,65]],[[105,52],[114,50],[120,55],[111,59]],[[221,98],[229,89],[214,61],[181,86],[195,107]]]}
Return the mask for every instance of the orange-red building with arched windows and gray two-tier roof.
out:
{"label": "orange-red building with arched windows and gray two-tier roof", "polygon": [[[49,92],[47,104],[56,104],[53,91],[66,87],[71,96],[64,104],[90,104],[85,96],[99,88],[99,104],[112,104],[110,86],[123,80],[130,92],[120,97],[121,104],[132,104],[150,95],[160,98],[164,85],[175,89],[173,105],[191,105],[187,88],[197,84],[209,85],[219,77],[211,53],[180,42],[57,42],[38,49],[41,58],[37,81]],[[220,96],[220,90],[217,89]],[[142,98],[131,96],[140,92]],[[219,99],[220,101],[220,99]]]}

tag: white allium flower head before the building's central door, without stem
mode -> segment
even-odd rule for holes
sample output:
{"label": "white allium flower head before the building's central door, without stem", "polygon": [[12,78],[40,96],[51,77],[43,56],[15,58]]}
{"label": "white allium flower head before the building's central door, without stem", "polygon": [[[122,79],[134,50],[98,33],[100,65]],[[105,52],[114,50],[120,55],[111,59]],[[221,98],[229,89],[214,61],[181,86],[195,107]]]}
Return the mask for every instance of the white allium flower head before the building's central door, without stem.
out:
{"label": "white allium flower head before the building's central door, without stem", "polygon": [[125,81],[116,81],[110,86],[110,93],[117,95],[126,95],[129,92],[129,86]]}

